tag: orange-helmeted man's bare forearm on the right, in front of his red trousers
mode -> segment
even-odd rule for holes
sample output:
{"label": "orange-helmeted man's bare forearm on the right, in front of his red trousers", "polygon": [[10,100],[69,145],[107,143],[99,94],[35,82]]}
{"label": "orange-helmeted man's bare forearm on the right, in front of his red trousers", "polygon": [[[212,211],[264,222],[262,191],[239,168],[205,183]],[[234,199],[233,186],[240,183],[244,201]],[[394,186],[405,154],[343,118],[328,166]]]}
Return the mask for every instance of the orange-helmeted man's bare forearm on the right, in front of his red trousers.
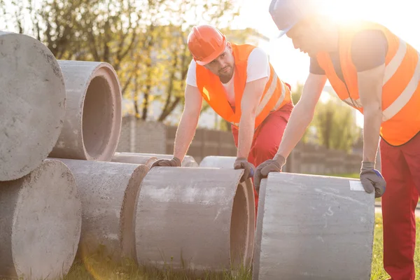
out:
{"label": "orange-helmeted man's bare forearm on the right, in front of his red trousers", "polygon": [[255,128],[255,113],[241,114],[239,121],[237,158],[248,158]]}

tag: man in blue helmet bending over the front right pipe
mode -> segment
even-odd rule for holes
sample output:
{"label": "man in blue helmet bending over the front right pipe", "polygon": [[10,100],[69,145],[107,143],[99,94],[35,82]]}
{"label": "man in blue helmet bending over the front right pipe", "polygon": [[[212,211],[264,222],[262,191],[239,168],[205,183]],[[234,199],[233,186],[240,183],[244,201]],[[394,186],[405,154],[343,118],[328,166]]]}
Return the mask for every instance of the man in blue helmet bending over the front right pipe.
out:
{"label": "man in blue helmet bending over the front right pipe", "polygon": [[[255,188],[281,172],[314,116],[328,79],[343,102],[363,113],[360,181],[381,197],[384,269],[393,280],[414,280],[415,214],[420,193],[419,52],[386,27],[354,20],[338,24],[316,1],[272,0],[269,13],[294,47],[310,57],[309,76],[273,159],[255,170]],[[375,169],[380,139],[381,172]]]}

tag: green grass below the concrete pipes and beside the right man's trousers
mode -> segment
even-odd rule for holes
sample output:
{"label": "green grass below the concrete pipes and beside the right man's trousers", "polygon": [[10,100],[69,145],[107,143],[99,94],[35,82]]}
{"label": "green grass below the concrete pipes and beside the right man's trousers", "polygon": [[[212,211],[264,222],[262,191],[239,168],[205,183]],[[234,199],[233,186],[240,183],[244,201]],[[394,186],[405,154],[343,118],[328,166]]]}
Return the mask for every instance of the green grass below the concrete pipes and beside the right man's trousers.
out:
{"label": "green grass below the concrete pipes and beside the right man's trousers", "polygon": [[[420,276],[420,219],[416,223],[416,252],[414,263],[416,264],[416,276]],[[371,280],[386,280],[388,274],[383,266],[382,244],[382,218],[380,214],[375,216],[374,244],[372,253],[372,277]],[[251,270],[241,269],[236,276],[230,272],[204,273],[202,276],[193,276],[193,272],[174,272],[170,263],[165,269],[159,270],[154,267],[137,267],[134,262],[126,261],[117,265],[103,254],[92,255],[84,260],[75,260],[69,273],[62,280],[251,280]]]}

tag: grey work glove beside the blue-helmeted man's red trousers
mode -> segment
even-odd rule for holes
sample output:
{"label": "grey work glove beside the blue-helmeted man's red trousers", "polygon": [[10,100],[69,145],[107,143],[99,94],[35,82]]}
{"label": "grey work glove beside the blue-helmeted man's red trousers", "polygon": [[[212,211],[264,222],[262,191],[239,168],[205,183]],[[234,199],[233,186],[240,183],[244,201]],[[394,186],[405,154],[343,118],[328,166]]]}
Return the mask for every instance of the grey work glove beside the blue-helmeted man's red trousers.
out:
{"label": "grey work glove beside the blue-helmeted man's red trousers", "polygon": [[366,193],[374,191],[374,197],[381,197],[385,193],[386,182],[381,173],[374,169],[374,162],[362,162],[360,183],[362,183]]}

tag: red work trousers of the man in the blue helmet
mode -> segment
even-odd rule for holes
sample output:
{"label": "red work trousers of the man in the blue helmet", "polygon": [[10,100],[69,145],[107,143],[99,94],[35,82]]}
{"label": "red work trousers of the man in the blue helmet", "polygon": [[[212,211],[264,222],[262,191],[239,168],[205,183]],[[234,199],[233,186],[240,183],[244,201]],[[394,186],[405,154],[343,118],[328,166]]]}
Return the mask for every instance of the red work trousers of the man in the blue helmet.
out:
{"label": "red work trousers of the man in the blue helmet", "polygon": [[402,146],[381,139],[384,269],[392,280],[414,280],[415,209],[420,193],[420,134]]}

